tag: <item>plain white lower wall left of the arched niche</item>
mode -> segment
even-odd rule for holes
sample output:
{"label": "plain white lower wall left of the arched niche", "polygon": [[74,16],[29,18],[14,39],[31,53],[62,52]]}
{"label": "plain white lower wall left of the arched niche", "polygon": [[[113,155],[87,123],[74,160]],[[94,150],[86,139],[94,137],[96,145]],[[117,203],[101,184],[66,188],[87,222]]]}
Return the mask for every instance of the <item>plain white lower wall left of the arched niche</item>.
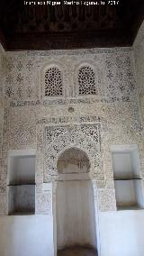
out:
{"label": "plain white lower wall left of the arched niche", "polygon": [[53,256],[53,219],[48,215],[1,216],[1,256]]}

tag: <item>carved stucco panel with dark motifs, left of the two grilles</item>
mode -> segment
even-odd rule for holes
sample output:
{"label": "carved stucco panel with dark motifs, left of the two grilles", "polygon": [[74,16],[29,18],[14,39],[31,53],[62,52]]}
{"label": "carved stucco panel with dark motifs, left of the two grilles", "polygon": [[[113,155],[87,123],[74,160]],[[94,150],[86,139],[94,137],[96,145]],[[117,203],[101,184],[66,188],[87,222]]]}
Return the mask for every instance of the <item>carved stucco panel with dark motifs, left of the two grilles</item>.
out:
{"label": "carved stucco panel with dark motifs, left of the two grilles", "polygon": [[6,59],[5,96],[13,99],[37,99],[39,97],[39,76],[36,63],[31,58]]}

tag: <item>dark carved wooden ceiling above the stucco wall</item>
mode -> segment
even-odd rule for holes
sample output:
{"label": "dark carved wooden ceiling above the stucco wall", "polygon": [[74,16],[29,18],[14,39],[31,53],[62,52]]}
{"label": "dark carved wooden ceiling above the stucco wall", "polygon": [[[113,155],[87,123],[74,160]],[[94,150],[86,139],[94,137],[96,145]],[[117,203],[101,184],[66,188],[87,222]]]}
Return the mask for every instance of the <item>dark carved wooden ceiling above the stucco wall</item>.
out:
{"label": "dark carved wooden ceiling above the stucco wall", "polygon": [[103,2],[52,6],[0,0],[0,41],[5,50],[130,46],[144,18],[144,0]]}

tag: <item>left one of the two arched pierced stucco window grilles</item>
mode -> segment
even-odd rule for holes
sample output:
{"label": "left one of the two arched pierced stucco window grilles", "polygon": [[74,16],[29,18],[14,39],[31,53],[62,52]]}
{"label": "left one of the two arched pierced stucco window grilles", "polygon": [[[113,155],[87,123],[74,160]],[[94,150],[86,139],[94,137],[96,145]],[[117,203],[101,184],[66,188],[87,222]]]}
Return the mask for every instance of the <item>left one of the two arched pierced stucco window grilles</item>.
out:
{"label": "left one of the two arched pierced stucco window grilles", "polygon": [[45,96],[62,96],[62,78],[58,68],[50,68],[45,73]]}

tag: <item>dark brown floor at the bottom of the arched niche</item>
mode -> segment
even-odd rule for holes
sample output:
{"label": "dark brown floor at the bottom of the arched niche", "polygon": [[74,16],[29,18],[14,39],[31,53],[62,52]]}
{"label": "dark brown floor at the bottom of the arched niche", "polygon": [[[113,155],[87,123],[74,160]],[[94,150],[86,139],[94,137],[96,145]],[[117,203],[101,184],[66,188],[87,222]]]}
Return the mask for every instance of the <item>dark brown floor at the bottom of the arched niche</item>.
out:
{"label": "dark brown floor at the bottom of the arched niche", "polygon": [[91,248],[73,247],[58,251],[58,256],[97,256],[97,253]]}

